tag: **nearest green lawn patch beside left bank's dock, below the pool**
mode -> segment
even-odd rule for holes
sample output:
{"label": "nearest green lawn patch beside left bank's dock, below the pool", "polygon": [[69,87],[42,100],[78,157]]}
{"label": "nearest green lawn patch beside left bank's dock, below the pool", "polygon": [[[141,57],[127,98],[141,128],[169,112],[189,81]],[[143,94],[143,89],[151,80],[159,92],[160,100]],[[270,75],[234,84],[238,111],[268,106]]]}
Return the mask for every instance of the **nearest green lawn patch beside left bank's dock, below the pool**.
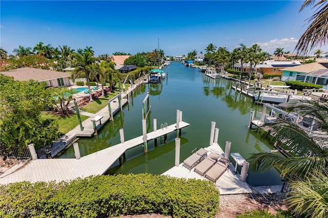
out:
{"label": "nearest green lawn patch beside left bank's dock, below the pool", "polygon": [[[63,117],[60,115],[42,112],[41,117],[43,119],[48,118],[48,119],[57,120],[57,122],[59,124],[58,132],[60,133],[60,135],[64,135],[64,134],[68,133],[69,131],[71,131],[72,129],[74,129],[75,127],[77,127],[79,125],[76,114],[71,114],[70,116]],[[88,118],[88,116],[81,115],[82,122],[84,120],[86,120],[87,118]]]}

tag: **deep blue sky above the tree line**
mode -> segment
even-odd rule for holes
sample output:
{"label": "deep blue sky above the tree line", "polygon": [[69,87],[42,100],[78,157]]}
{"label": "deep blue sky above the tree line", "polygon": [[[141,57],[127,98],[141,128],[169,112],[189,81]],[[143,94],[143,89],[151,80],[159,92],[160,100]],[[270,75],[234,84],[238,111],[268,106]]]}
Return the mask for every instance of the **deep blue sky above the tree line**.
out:
{"label": "deep blue sky above the tree line", "polygon": [[[92,46],[95,56],[198,53],[213,43],[232,51],[258,43],[273,54],[294,51],[314,11],[304,1],[0,1],[0,46]],[[327,52],[326,48],[322,48]],[[313,54],[313,52],[312,52]],[[311,52],[309,52],[311,55]]]}

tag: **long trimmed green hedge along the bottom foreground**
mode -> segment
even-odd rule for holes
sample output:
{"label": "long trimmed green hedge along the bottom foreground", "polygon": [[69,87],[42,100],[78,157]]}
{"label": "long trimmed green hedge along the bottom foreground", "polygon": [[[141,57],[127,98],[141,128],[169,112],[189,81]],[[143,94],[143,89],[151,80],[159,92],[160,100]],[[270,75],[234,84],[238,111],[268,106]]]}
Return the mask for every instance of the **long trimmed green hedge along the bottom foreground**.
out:
{"label": "long trimmed green hedge along the bottom foreground", "polygon": [[147,213],[213,217],[218,207],[219,191],[210,181],[150,174],[0,186],[1,217],[17,217],[10,211],[28,210],[31,217],[36,214],[38,217],[113,217]]}

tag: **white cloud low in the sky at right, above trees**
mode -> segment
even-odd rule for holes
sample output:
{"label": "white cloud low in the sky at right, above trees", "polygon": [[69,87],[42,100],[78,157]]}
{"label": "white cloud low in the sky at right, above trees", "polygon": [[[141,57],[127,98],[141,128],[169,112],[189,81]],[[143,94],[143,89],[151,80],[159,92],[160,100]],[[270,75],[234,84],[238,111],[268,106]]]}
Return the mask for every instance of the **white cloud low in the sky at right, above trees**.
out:
{"label": "white cloud low in the sky at right, above trees", "polygon": [[285,51],[291,51],[295,49],[295,46],[298,42],[298,39],[295,38],[283,38],[283,39],[273,39],[268,42],[257,42],[258,45],[261,46],[261,48],[264,51],[269,51],[269,53],[273,53],[277,49],[277,47],[283,48]]}

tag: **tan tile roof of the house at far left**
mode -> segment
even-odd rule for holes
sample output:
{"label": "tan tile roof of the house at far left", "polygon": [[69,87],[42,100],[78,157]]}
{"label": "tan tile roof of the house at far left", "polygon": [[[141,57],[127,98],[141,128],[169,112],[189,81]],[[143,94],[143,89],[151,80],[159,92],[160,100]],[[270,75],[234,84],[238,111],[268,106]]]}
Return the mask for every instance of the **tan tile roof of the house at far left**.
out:
{"label": "tan tile roof of the house at far left", "polygon": [[14,80],[19,80],[19,81],[35,80],[39,82],[47,81],[51,79],[66,78],[71,76],[71,74],[69,74],[68,72],[58,72],[53,70],[38,69],[32,67],[23,67],[23,68],[13,69],[9,71],[4,71],[1,73],[6,76],[13,77]]}

